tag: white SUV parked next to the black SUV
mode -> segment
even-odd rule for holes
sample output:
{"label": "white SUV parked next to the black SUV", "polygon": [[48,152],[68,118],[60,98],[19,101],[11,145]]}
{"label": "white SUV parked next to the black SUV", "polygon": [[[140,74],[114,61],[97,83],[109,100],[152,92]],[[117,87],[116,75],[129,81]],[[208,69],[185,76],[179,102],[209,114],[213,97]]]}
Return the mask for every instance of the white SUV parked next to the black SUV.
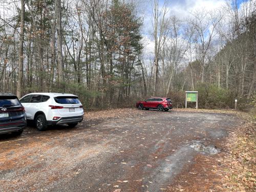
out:
{"label": "white SUV parked next to the black SUV", "polygon": [[37,130],[47,125],[66,123],[75,127],[83,120],[83,108],[78,97],[63,93],[30,93],[20,99],[27,119],[34,120]]}

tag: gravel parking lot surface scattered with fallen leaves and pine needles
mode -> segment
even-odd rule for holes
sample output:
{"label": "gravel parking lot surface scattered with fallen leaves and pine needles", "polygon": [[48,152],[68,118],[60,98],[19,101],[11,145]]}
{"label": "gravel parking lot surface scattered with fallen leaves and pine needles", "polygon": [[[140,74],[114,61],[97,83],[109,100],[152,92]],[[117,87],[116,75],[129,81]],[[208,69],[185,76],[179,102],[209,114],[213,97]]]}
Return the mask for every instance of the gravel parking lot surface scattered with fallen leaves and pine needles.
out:
{"label": "gravel parking lot surface scattered with fallen leaves and pine needles", "polygon": [[0,191],[214,190],[210,166],[238,124],[228,114],[124,109],[87,113],[74,129],[28,127],[0,136]]}

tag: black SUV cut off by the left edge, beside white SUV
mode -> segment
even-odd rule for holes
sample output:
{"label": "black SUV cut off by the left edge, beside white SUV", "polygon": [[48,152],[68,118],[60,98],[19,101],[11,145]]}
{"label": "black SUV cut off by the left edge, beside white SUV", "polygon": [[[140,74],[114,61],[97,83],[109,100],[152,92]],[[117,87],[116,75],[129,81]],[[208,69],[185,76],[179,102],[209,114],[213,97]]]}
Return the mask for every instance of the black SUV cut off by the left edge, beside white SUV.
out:
{"label": "black SUV cut off by the left edge, beside white SUV", "polygon": [[17,96],[0,93],[0,134],[20,135],[25,129],[26,123],[25,109]]}

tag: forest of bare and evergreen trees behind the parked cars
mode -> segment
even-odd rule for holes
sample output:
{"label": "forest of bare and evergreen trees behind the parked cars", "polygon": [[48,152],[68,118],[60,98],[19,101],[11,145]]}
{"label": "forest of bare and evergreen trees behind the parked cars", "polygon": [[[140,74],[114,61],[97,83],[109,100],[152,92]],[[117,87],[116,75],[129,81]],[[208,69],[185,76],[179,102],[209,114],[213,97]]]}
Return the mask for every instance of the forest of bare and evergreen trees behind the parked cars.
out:
{"label": "forest of bare and evergreen trees behind the parked cars", "polygon": [[232,109],[234,99],[240,109],[255,106],[256,1],[226,0],[182,18],[170,7],[160,0],[0,0],[0,92],[72,93],[90,109],[147,97],[183,108],[185,91],[199,91],[199,108]]}

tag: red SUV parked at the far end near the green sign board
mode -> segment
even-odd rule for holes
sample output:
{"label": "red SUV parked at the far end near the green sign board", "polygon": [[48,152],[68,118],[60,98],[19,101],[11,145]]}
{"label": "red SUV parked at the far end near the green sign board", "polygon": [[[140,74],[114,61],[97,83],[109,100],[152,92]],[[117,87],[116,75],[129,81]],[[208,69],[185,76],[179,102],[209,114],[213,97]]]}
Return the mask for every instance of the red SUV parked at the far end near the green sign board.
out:
{"label": "red SUV parked at the far end near the green sign board", "polygon": [[137,101],[136,108],[139,110],[157,109],[158,111],[168,111],[173,109],[173,103],[169,98],[149,98],[144,101]]}

